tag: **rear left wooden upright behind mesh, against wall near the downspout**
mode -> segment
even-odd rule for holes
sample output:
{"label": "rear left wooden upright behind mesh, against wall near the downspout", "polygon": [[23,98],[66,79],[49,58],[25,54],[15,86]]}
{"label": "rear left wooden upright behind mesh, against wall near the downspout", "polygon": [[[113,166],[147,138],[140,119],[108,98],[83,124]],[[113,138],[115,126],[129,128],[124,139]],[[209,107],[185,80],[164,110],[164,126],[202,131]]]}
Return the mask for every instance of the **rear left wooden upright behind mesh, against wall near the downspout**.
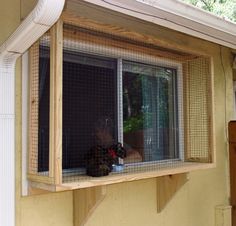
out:
{"label": "rear left wooden upright behind mesh, against wall near the downspout", "polygon": [[39,42],[29,50],[28,172],[38,171]]}

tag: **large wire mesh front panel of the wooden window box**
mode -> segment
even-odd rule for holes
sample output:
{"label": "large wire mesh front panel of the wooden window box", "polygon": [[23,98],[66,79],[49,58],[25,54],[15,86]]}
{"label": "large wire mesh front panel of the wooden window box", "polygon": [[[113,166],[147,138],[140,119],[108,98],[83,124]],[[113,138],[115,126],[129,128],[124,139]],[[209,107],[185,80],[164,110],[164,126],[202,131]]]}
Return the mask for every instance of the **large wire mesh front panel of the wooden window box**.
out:
{"label": "large wire mesh front panel of the wooden window box", "polygon": [[211,161],[209,59],[68,24],[63,32],[64,183]]}

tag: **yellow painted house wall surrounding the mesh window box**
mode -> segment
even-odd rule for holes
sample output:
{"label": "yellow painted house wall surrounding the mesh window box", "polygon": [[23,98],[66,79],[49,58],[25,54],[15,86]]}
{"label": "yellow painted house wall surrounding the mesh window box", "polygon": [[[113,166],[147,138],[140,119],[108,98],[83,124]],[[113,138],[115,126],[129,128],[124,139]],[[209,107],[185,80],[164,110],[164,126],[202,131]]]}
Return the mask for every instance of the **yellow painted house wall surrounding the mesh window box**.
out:
{"label": "yellow painted house wall surrounding the mesh window box", "polygon": [[[24,2],[27,2],[27,4],[24,4]],[[0,43],[16,28],[20,23],[20,18],[23,18],[25,16],[23,14],[27,14],[31,10],[34,3],[35,1],[27,0],[1,1]],[[20,8],[21,11],[19,12]],[[88,13],[88,8],[81,9],[82,13]],[[93,13],[90,13],[90,15],[91,17],[96,16]],[[101,15],[99,20],[105,21],[106,17]],[[113,20],[109,21],[112,22]],[[226,126],[227,121],[233,115],[232,58],[230,50],[222,47],[220,51],[219,45],[185,36],[166,28],[157,27],[156,31],[153,31],[149,27],[151,25],[133,26],[132,24],[135,21],[132,20],[127,23],[122,22],[122,19],[113,22],[117,25],[123,23],[127,29],[136,29],[143,33],[152,33],[153,35],[156,32],[163,42],[176,44],[184,49],[205,52],[213,56],[217,166],[214,169],[189,173],[189,181],[159,214],[157,213],[155,179],[107,186],[107,195],[104,201],[95,210],[86,226],[214,226],[215,207],[217,205],[228,205],[229,203]],[[72,226],[73,192],[21,197],[22,81],[20,60],[17,62],[16,71],[17,226]]]}

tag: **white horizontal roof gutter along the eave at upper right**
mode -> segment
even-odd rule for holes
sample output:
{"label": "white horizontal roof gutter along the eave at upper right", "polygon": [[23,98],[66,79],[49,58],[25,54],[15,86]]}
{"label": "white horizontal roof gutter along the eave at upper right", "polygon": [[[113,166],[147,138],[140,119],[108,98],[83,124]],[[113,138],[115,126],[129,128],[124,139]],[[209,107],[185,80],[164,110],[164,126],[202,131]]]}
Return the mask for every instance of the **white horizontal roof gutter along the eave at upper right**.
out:
{"label": "white horizontal roof gutter along the eave at upper right", "polygon": [[84,1],[236,49],[235,23],[177,0]]}

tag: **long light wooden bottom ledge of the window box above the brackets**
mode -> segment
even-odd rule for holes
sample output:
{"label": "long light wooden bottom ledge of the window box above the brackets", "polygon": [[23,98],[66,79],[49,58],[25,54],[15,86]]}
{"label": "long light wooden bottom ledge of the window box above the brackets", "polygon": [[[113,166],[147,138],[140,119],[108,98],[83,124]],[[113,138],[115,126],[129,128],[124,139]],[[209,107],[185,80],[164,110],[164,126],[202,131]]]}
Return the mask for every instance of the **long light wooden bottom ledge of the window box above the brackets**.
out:
{"label": "long light wooden bottom ledge of the window box above the brackets", "polygon": [[34,188],[56,191],[68,191],[80,188],[88,188],[102,185],[109,185],[121,182],[129,182],[141,179],[162,177],[166,175],[175,175],[180,173],[188,173],[195,170],[211,169],[214,168],[214,163],[195,163],[195,162],[176,162],[172,168],[167,164],[157,165],[152,170],[141,167],[135,172],[124,169],[122,173],[111,173],[109,176],[104,177],[89,177],[85,175],[63,175],[63,183],[61,185],[45,184],[32,181],[30,185]]}

